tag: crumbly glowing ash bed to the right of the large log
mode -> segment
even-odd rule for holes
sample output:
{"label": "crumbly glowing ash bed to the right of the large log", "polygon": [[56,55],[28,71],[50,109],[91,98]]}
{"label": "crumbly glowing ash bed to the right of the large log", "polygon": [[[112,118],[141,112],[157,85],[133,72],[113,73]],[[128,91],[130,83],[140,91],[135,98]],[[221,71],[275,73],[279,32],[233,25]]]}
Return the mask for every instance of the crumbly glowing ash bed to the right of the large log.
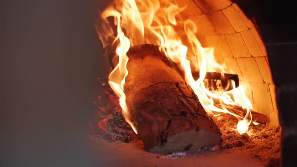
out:
{"label": "crumbly glowing ash bed to the right of the large log", "polygon": [[240,134],[235,129],[237,119],[228,114],[213,117],[222,133],[222,145],[219,149],[229,152],[242,150],[246,155],[262,161],[280,157],[280,128],[268,125],[250,125],[247,133]]}

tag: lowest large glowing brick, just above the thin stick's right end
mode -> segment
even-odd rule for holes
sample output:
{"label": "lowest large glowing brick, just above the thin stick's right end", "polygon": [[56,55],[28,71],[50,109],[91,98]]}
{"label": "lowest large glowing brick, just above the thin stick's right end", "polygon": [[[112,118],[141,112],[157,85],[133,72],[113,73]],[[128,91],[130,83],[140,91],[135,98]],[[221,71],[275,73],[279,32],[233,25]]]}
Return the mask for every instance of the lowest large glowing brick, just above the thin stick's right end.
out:
{"label": "lowest large glowing brick, just above the thin stick's right end", "polygon": [[273,112],[273,107],[268,84],[251,82],[251,90],[255,102],[254,110],[269,117],[270,113]]}

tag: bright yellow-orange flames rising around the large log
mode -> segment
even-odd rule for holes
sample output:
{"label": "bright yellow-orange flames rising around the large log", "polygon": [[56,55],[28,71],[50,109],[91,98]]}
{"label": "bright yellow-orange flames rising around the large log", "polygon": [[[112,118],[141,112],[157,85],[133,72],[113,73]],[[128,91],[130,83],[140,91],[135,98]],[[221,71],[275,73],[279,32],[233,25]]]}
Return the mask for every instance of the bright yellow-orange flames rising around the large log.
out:
{"label": "bright yellow-orange flames rising around the large log", "polygon": [[[169,59],[178,64],[187,84],[194,90],[208,114],[212,115],[213,111],[232,114],[239,119],[237,130],[245,133],[252,122],[251,102],[246,97],[243,87],[235,88],[234,83],[231,83],[234,89],[227,92],[211,92],[206,89],[203,82],[206,72],[219,72],[224,76],[228,69],[226,65],[215,61],[213,48],[202,47],[195,35],[195,23],[180,18],[179,13],[182,10],[184,8],[171,1],[123,0],[115,1],[101,13],[103,24],[97,27],[99,37],[104,47],[117,45],[115,51],[119,62],[109,75],[109,84],[119,97],[125,120],[137,133],[129,119],[129,109],[125,101],[124,84],[128,75],[126,53],[131,46],[148,43],[158,45]],[[114,19],[113,24],[108,21],[109,18]],[[116,26],[116,30],[113,30],[112,26]],[[187,41],[182,41],[178,35],[180,32],[177,33],[177,29],[180,27],[183,27]],[[192,72],[199,72],[199,78],[195,80]],[[247,111],[245,117],[230,112],[226,105],[242,106]]]}

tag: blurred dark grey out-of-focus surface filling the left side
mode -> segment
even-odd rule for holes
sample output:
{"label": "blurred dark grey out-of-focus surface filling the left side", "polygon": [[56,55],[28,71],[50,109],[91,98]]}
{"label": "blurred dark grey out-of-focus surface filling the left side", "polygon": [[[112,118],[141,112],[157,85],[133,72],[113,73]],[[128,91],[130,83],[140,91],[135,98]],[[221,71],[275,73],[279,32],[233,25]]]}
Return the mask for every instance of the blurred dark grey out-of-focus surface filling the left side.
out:
{"label": "blurred dark grey out-of-focus surface filling the left side", "polygon": [[94,20],[108,2],[0,2],[0,166],[93,165],[88,121],[107,74]]}

